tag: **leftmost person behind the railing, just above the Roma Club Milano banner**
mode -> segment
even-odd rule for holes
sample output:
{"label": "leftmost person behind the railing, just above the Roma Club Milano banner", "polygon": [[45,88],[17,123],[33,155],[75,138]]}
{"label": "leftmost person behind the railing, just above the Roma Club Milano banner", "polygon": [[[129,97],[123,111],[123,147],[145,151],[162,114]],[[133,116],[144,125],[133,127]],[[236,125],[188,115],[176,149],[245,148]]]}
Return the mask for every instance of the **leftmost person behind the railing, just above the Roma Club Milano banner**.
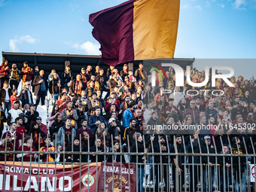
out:
{"label": "leftmost person behind the railing, just above the Roma Club Milano banner", "polygon": [[[14,151],[14,144],[11,142],[11,134],[7,134],[7,142],[2,142],[2,145],[0,145],[0,151]],[[0,161],[5,161],[5,157],[7,161],[13,161],[14,160],[14,154],[0,154]]]}

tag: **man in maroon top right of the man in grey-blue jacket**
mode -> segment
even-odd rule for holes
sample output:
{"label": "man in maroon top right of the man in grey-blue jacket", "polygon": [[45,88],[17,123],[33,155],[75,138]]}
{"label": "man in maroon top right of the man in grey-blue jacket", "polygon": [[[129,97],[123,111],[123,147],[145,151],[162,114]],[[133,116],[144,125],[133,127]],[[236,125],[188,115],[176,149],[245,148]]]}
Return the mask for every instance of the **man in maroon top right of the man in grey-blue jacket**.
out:
{"label": "man in maroon top right of the man in grey-blue jacket", "polygon": [[88,146],[88,139],[89,139],[89,145],[93,144],[93,133],[89,128],[87,128],[87,120],[82,120],[81,124],[82,124],[82,127],[79,128],[76,133],[76,136],[78,138],[80,138],[81,136],[81,145]]}

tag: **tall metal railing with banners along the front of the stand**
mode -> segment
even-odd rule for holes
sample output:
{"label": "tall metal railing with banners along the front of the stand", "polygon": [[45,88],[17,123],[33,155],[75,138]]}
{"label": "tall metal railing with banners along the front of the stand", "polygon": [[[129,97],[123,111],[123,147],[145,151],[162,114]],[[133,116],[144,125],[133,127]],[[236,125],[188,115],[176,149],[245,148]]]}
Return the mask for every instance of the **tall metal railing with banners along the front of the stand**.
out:
{"label": "tall metal railing with banners along the front of the stand", "polygon": [[[64,142],[65,135],[62,136]],[[74,136],[72,135],[72,141],[73,140]],[[169,145],[166,136],[165,151],[162,151],[162,145],[160,143],[157,143],[160,151],[154,151],[156,145],[154,145],[153,139],[151,139],[149,146],[146,146],[145,142],[142,142],[144,146],[143,152],[138,151],[138,142],[135,143],[136,151],[130,151],[131,146],[129,138],[127,139],[126,146],[123,145],[120,140],[119,143],[121,147],[119,152],[113,151],[113,137],[111,137],[111,141],[108,142],[110,144],[108,148],[105,145],[105,136],[103,140],[104,151],[101,152],[97,152],[99,148],[98,145],[95,145],[96,151],[90,150],[90,138],[87,139],[87,145],[84,145],[87,149],[83,151],[85,148],[83,148],[81,142],[81,135],[79,151],[73,151],[75,148],[74,142],[70,144],[72,151],[66,151],[65,147],[62,151],[49,151],[49,146],[46,146],[46,151],[40,151],[40,147],[37,151],[32,151],[32,148],[30,148],[30,151],[24,151],[24,147],[26,146],[24,144],[22,145],[22,151],[16,151],[15,148],[10,151],[8,150],[8,136],[6,136],[5,143],[2,144],[2,146],[5,146],[5,150],[0,151],[0,155],[2,157],[5,156],[5,161],[2,161],[0,169],[0,190],[37,191],[36,189],[38,189],[40,191],[82,191],[85,186],[87,187],[87,191],[91,191],[92,186],[94,186],[95,191],[102,191],[101,186],[103,186],[104,191],[110,191],[108,188],[110,187],[109,185],[111,185],[112,191],[136,192],[141,191],[141,189],[144,191],[256,191],[255,181],[251,182],[250,179],[251,172],[252,175],[254,175],[256,171],[255,166],[253,169],[249,167],[251,161],[255,163],[256,157],[254,143],[251,138],[247,144],[252,146],[253,154],[248,154],[246,144],[244,154],[242,154],[240,150],[238,150],[238,154],[233,154],[232,150],[230,150],[230,153],[226,154],[224,150],[222,153],[217,153],[214,138],[212,139],[213,145],[206,145],[207,153],[203,153],[202,146],[204,144],[200,142],[198,143],[199,145],[196,146],[197,153],[194,151],[195,147],[191,147],[192,152],[188,153],[187,147],[189,146],[184,144],[184,136],[181,137],[181,144],[173,142],[172,148],[170,148],[171,145]],[[160,138],[158,138],[158,140],[160,140]],[[55,143],[53,144],[55,146],[57,145],[56,141],[57,138],[55,138]],[[143,141],[145,141],[144,136]],[[175,138],[173,141],[175,141]],[[190,146],[193,146],[193,141],[190,136]],[[16,137],[14,137],[12,142],[14,142],[14,144],[17,142]],[[231,146],[229,138],[228,142],[228,145]],[[243,138],[241,142],[245,143],[245,138]],[[41,143],[40,134],[38,136],[38,143]],[[241,143],[239,143],[237,139],[235,145],[237,148],[241,148]],[[65,143],[63,143],[62,146],[65,146]],[[222,140],[221,146],[224,146]],[[181,147],[184,152],[180,152]],[[209,148],[212,147],[215,153],[210,153]],[[150,149],[150,152],[148,149]],[[17,154],[22,154],[20,160],[17,159]],[[32,162],[32,155],[35,157],[35,154],[38,158],[35,162]],[[40,155],[42,154],[47,154],[45,162],[40,160]],[[50,154],[55,154],[54,162],[49,162],[48,157]],[[29,164],[23,160],[24,155],[29,155]],[[71,160],[65,158],[68,155],[71,155]],[[61,160],[59,160],[59,156],[62,156],[62,158],[60,158]],[[131,160],[133,156],[136,157],[135,162]],[[10,161],[10,157],[13,157],[12,161]],[[79,159],[75,160],[76,157],[79,157]],[[94,160],[94,157],[95,163],[92,162],[92,158]],[[120,159],[118,162],[116,162],[117,157]],[[123,157],[125,162],[123,162]],[[143,163],[139,160],[142,157],[145,157]],[[109,161],[109,159],[111,159],[111,161]],[[180,160],[183,162],[179,163]],[[211,162],[211,160],[213,160],[213,162]],[[131,175],[131,167],[133,166],[136,168],[134,169],[136,174],[133,172]],[[119,176],[117,176],[117,172],[114,171],[117,167],[120,167],[120,170],[122,170],[119,172]],[[110,170],[109,172],[111,172],[112,178],[108,177],[109,172],[107,169]],[[92,170],[94,172],[93,175]],[[87,173],[85,173],[85,171]],[[145,174],[143,174],[143,172],[145,172]],[[20,177],[18,177],[17,173],[19,173]],[[58,177],[57,175],[59,174],[61,174],[62,177]],[[136,178],[134,175],[136,175]],[[99,177],[102,177],[102,179],[100,180]],[[140,178],[142,178],[142,181]],[[57,179],[59,180],[56,181]],[[92,184],[90,186],[93,182],[92,179],[96,181],[94,180],[94,185]],[[120,180],[118,186],[116,180]],[[254,178],[254,180],[256,180],[256,178]],[[79,184],[77,184],[77,182],[79,182]],[[142,185],[141,187],[140,184]],[[126,188],[123,189],[123,187]]]}

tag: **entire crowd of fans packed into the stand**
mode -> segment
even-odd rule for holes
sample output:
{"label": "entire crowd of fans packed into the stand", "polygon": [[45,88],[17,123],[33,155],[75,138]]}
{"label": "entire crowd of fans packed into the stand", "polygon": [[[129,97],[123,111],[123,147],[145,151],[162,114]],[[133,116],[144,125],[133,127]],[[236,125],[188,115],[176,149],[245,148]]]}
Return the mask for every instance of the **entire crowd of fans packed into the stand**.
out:
{"label": "entire crowd of fans packed into the stand", "polygon": [[[151,69],[152,72],[153,69]],[[166,77],[156,73],[157,87],[151,87],[151,72],[143,69],[128,70],[123,65],[123,70],[118,72],[113,66],[107,70],[96,66],[82,68],[81,73],[73,76],[70,66],[59,78],[56,70],[52,70],[48,78],[44,70],[35,70],[29,67],[28,62],[23,63],[23,69],[17,69],[15,63],[10,69],[8,61],[4,60],[0,68],[0,87],[3,108],[0,114],[1,134],[4,122],[7,121],[10,130],[2,134],[2,151],[94,151],[99,154],[86,155],[66,154],[67,162],[125,162],[123,155],[100,154],[102,151],[131,151],[131,152],[175,152],[174,144],[179,153],[230,153],[253,154],[256,136],[254,135],[256,118],[256,81],[254,78],[244,80],[242,76],[230,78],[234,87],[229,87],[221,79],[216,79],[216,87],[211,86],[211,81],[204,87],[190,87],[185,81],[184,87],[175,87],[175,72],[169,69]],[[185,70],[184,70],[185,72]],[[218,72],[216,72],[218,73]],[[184,73],[185,74],[185,73]],[[211,72],[209,74],[212,74]],[[204,72],[192,69],[190,78],[194,83],[204,81]],[[184,80],[186,80],[184,75]],[[211,77],[210,77],[211,79]],[[17,87],[22,83],[23,89],[17,92]],[[10,86],[9,86],[10,84]],[[214,88],[214,89],[213,89]],[[41,117],[36,111],[41,101],[49,90],[53,100],[53,110],[50,112],[49,128],[41,123]],[[170,90],[168,94],[161,94],[161,90]],[[198,94],[183,94],[186,90],[197,90]],[[209,90],[209,91],[205,91]],[[212,94],[212,90],[215,94]],[[173,93],[175,92],[175,93]],[[36,96],[34,104],[32,94]],[[102,98],[104,95],[104,98]],[[23,109],[23,110],[22,110]],[[5,111],[8,113],[6,118]],[[191,130],[163,130],[166,126],[194,127]],[[192,126],[194,125],[194,126]],[[151,127],[156,129],[151,129]],[[198,126],[207,126],[209,129],[200,130]],[[217,128],[216,128],[217,127]],[[239,129],[245,128],[245,129]],[[231,129],[232,128],[232,129]],[[14,142],[15,141],[15,142]],[[237,145],[239,144],[239,145]],[[121,146],[120,146],[121,145]],[[146,151],[145,151],[146,149]],[[35,161],[36,154],[1,154],[1,160]],[[54,162],[55,154],[40,154],[44,162]],[[154,158],[154,159],[153,159]],[[137,163],[168,163],[169,158],[173,167],[178,166],[178,172],[184,178],[185,156],[132,156],[130,162]],[[193,160],[192,160],[193,159]],[[253,161],[253,158],[248,159]],[[200,157],[188,158],[188,163],[200,163]],[[239,162],[241,163],[239,166]],[[233,158],[233,175],[237,172],[242,175],[242,187],[245,189],[245,157]],[[225,165],[230,172],[230,157],[218,158],[202,157],[202,163],[209,166],[215,164]],[[166,166],[166,165],[164,165]],[[194,166],[190,169],[190,191],[196,191],[197,176],[200,175]],[[155,172],[159,169],[155,166]],[[174,169],[175,170],[175,169]],[[203,169],[203,178],[206,169]],[[151,180],[153,181],[151,166]],[[142,178],[144,167],[140,166],[139,190],[143,191]],[[166,178],[169,169],[163,169],[163,178]],[[232,175],[232,174],[230,174]],[[156,175],[157,176],[157,175]],[[215,177],[212,169],[212,178]],[[172,172],[175,180],[175,171]],[[203,190],[206,191],[206,181],[203,180]],[[226,179],[229,181],[230,178]],[[212,179],[214,181],[214,179]],[[184,179],[181,179],[181,184]],[[156,177],[155,188],[158,191],[159,176]],[[236,179],[236,191],[238,191]],[[175,187],[175,181],[174,181]]]}

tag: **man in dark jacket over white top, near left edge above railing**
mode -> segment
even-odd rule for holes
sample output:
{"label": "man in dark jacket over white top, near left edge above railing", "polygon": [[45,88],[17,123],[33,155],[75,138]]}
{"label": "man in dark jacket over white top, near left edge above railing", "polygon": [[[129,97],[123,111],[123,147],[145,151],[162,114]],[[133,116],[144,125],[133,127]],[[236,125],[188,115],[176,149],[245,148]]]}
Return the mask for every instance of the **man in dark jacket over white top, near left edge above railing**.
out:
{"label": "man in dark jacket over white top, near left edge above railing", "polygon": [[[4,144],[6,135],[11,135],[11,139],[12,139],[11,142],[14,145],[15,151],[17,151],[20,148],[20,146],[22,144],[22,139],[23,139],[23,137],[20,135],[20,133],[18,133],[16,130],[17,130],[16,123],[11,123],[10,130],[5,132],[2,136],[2,144]],[[15,143],[14,143],[14,140],[15,140]]]}

